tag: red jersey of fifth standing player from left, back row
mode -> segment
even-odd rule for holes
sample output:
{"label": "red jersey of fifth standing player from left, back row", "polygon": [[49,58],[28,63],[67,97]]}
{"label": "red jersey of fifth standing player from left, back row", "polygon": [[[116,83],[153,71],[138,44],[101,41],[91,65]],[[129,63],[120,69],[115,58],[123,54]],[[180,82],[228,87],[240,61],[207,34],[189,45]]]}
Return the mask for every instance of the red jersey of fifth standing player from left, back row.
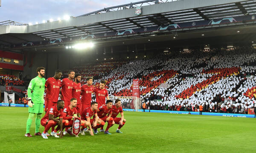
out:
{"label": "red jersey of fifth standing player from left, back row", "polygon": [[88,85],[83,85],[81,88],[82,91],[82,98],[81,103],[85,105],[90,105],[92,101],[92,93],[93,93],[93,86],[90,87]]}

